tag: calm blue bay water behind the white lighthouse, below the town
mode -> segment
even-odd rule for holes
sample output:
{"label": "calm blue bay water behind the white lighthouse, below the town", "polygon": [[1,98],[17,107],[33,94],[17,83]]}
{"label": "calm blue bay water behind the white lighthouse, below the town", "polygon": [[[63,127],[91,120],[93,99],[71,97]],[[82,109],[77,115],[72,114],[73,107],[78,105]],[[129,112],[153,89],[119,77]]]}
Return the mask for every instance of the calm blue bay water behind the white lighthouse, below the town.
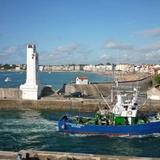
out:
{"label": "calm blue bay water behind the white lighthouse, below the town", "polygon": [[[98,75],[89,72],[40,72],[39,79],[42,84],[52,85],[54,89],[59,89],[64,83],[75,81],[77,76],[87,76],[91,82],[107,82],[111,81],[112,77]],[[5,82],[5,78],[11,78],[10,82]],[[25,83],[26,72],[0,72],[0,88],[1,87],[19,87]]]}

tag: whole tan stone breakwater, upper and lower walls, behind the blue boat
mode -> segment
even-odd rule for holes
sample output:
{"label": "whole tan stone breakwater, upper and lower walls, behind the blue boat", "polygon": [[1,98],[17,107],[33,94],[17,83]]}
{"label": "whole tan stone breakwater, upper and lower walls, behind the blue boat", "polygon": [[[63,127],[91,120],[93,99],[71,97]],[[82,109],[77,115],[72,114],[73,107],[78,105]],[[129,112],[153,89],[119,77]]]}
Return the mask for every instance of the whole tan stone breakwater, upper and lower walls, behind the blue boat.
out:
{"label": "whole tan stone breakwater, upper and lower walls, behind the blue boat", "polygon": [[[120,86],[139,86],[141,91],[146,91],[151,86],[151,77],[146,77],[136,81],[123,81],[119,82]],[[102,101],[101,94],[107,98],[108,103],[110,102],[111,89],[113,82],[101,83],[101,84],[88,84],[88,85],[75,85],[67,84],[65,86],[64,95],[69,95],[74,92],[81,92],[87,95],[85,98],[72,98],[64,95],[58,95],[57,93],[49,92],[41,99],[37,101],[33,100],[22,100],[21,91],[18,88],[0,88],[0,108],[35,108],[35,109],[53,109],[59,111],[68,110],[72,107],[73,110],[77,111],[96,111],[99,105],[106,105]],[[159,101],[149,101],[143,106],[143,109],[148,106],[154,106],[156,110],[160,110]]]}

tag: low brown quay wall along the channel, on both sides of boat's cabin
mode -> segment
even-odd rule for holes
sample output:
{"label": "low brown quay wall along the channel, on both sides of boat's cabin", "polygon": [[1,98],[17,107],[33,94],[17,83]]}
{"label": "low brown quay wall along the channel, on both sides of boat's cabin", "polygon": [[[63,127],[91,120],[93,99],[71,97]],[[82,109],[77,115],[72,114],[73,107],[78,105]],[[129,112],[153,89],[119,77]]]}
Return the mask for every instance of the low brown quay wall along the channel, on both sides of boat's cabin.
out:
{"label": "low brown quay wall along the channel, on both sides of boat's cabin", "polygon": [[[143,101],[144,103],[144,101]],[[143,104],[141,103],[141,104]],[[109,102],[110,105],[112,103]],[[158,111],[160,112],[160,101],[147,100],[141,106],[141,111]],[[102,99],[82,99],[82,98],[54,98],[52,100],[0,100],[0,109],[50,109],[53,111],[68,111],[70,109],[78,112],[95,112],[99,105],[106,106]]]}

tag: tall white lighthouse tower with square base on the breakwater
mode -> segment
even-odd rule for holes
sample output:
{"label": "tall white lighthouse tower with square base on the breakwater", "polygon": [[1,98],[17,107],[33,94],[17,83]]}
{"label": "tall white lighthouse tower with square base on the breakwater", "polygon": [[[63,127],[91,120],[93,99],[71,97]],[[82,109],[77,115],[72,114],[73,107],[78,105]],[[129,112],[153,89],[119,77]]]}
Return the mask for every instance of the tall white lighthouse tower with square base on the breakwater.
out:
{"label": "tall white lighthouse tower with square base on the breakwater", "polygon": [[27,71],[26,83],[20,86],[22,99],[37,100],[40,96],[41,89],[38,82],[38,53],[36,46],[27,45]]}

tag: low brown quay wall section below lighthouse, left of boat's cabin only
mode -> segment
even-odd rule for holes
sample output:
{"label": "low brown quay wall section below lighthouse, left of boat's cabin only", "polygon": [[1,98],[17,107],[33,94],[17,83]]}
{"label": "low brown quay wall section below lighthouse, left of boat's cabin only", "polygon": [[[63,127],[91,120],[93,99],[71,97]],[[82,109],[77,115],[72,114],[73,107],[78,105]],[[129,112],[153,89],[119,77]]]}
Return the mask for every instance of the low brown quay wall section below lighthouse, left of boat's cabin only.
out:
{"label": "low brown quay wall section below lighthouse, left of boat's cabin only", "polygon": [[73,109],[76,111],[92,112],[98,109],[100,100],[88,100],[82,98],[52,98],[38,101],[4,99],[0,100],[0,109],[51,109],[54,111],[67,111]]}

